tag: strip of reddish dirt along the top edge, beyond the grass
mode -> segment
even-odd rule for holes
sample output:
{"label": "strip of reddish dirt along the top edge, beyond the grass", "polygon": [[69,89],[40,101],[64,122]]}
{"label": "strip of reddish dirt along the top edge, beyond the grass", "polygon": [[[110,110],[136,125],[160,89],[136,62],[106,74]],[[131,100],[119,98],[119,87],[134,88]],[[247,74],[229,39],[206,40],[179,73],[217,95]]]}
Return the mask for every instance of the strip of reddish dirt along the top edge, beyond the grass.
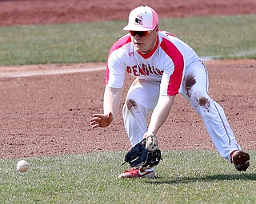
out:
{"label": "strip of reddish dirt along the top edge, beyond the grass", "polygon": [[[254,0],[144,0],[161,18],[255,14]],[[0,25],[126,20],[142,2],[134,0],[0,0]]]}

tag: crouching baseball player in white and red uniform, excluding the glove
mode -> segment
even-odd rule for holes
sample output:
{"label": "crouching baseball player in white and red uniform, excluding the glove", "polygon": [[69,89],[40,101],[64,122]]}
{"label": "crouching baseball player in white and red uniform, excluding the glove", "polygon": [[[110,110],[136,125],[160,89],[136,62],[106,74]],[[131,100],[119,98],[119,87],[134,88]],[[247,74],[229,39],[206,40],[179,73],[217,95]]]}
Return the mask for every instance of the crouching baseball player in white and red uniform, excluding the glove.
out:
{"label": "crouching baseball player in white and red uniform, excluding the glove", "polygon": [[[177,94],[200,116],[219,154],[238,171],[250,166],[250,155],[238,145],[223,108],[208,95],[206,66],[185,42],[158,26],[158,14],[148,6],[131,10],[125,36],[114,43],[106,63],[103,114],[90,119],[92,128],[105,128],[118,114],[125,73],[135,77],[127,92],[122,116],[131,147],[156,135]],[[151,114],[147,127],[146,119]],[[119,178],[154,178],[154,168],[130,168]]]}

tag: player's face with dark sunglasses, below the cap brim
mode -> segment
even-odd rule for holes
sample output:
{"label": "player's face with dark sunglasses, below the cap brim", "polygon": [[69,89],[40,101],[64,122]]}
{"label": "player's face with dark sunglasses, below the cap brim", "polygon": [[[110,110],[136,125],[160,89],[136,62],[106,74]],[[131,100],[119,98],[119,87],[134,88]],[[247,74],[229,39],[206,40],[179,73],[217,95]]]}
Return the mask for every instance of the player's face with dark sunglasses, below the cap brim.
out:
{"label": "player's face with dark sunglasses, below the cap brim", "polygon": [[158,38],[158,28],[150,31],[129,31],[134,47],[138,52],[149,52]]}

